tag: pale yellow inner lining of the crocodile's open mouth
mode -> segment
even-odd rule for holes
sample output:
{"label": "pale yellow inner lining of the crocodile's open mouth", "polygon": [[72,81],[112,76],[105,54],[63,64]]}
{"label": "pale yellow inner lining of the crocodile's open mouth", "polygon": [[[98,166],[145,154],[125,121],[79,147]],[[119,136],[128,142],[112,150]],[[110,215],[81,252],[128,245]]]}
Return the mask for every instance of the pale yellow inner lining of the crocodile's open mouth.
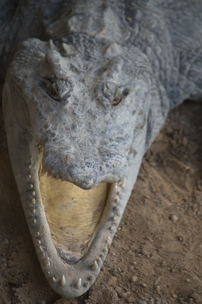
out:
{"label": "pale yellow inner lining of the crocodile's open mouth", "polygon": [[[40,166],[41,167],[41,166]],[[73,183],[40,176],[39,184],[53,242],[64,260],[81,260],[104,217],[110,184],[83,190]]]}

